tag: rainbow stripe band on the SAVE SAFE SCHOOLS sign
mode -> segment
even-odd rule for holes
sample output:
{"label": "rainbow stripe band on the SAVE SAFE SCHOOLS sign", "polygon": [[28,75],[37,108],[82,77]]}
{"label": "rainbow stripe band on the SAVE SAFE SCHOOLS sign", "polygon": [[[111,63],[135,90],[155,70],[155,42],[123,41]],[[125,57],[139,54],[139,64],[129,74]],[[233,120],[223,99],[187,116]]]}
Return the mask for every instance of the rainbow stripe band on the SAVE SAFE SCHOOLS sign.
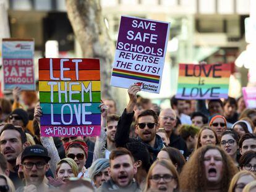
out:
{"label": "rainbow stripe band on the SAVE SAFE SCHOOLS sign", "polygon": [[122,69],[116,69],[116,68],[113,69],[112,76],[122,77],[122,78],[130,78],[133,80],[140,80],[140,81],[148,81],[151,83],[159,83],[159,81],[160,81],[160,76],[157,76],[157,75],[132,72],[129,70],[122,70]]}

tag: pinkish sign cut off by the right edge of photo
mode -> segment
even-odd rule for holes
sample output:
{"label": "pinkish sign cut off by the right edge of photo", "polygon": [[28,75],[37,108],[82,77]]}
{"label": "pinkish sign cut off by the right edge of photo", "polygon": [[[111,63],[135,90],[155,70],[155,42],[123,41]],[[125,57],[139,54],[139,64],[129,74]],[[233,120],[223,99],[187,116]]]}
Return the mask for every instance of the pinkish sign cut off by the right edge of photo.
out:
{"label": "pinkish sign cut off by the right edge of photo", "polygon": [[256,108],[256,87],[243,87],[245,106],[247,108]]}

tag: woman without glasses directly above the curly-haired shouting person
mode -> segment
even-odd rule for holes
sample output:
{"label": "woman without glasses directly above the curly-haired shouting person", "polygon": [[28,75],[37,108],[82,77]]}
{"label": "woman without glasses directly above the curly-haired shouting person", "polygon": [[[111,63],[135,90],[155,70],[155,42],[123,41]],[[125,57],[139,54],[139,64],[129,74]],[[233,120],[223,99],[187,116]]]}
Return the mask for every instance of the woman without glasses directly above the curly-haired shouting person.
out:
{"label": "woman without glasses directly above the curly-haired shouting person", "polygon": [[207,144],[218,144],[218,137],[214,130],[208,126],[204,126],[198,133],[195,150]]}

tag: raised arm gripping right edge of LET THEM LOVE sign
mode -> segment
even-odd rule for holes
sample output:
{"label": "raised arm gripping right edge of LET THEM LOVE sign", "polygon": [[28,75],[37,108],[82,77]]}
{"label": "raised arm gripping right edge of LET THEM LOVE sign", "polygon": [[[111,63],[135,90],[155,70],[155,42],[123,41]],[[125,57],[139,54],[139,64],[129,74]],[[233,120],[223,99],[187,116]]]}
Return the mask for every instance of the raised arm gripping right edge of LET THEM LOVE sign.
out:
{"label": "raised arm gripping right edge of LET THEM LOVE sign", "polygon": [[101,129],[100,129],[100,136],[96,136],[95,147],[93,151],[93,162],[96,161],[98,158],[105,158],[105,151],[106,151],[106,132],[105,129],[107,127],[107,116],[108,116],[108,106],[104,103],[100,104],[101,109]]}

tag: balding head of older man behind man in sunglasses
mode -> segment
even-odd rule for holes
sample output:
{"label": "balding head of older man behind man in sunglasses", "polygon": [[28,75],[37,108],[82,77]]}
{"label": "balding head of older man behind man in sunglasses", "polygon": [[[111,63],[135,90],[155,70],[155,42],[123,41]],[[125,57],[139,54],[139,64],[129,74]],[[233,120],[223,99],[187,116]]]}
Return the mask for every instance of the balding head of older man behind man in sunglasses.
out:
{"label": "balding head of older man behind man in sunglasses", "polygon": [[171,135],[173,128],[176,126],[177,117],[173,109],[163,109],[159,115],[160,127],[163,127],[168,135]]}

